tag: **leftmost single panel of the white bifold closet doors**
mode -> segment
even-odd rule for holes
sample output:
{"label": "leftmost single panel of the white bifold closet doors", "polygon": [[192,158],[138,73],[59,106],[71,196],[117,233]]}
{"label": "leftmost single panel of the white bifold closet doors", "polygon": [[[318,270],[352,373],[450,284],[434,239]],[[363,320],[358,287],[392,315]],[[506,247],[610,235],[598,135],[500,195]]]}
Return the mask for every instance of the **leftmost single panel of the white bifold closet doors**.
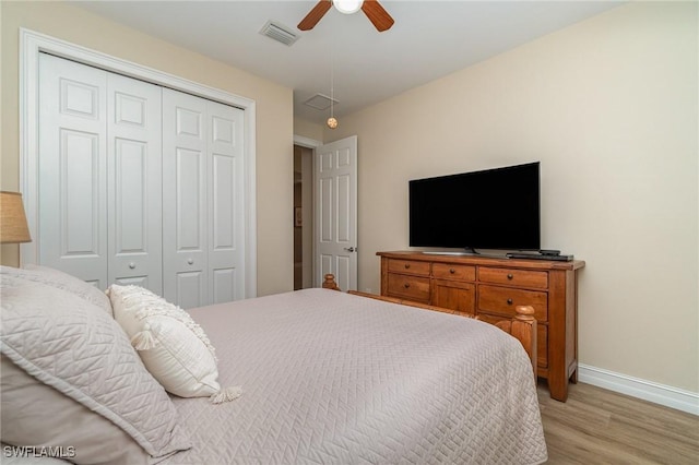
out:
{"label": "leftmost single panel of the white bifold closet doors", "polygon": [[107,76],[39,57],[39,263],[105,288]]}

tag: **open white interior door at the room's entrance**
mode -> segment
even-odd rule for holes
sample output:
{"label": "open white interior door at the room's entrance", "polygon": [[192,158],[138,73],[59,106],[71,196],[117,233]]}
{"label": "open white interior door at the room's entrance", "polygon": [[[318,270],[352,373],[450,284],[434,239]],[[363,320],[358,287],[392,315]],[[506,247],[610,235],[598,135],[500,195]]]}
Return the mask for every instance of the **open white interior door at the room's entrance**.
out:
{"label": "open white interior door at the room's entrance", "polygon": [[342,290],[357,289],[357,136],[316,148],[316,278],[333,273]]}

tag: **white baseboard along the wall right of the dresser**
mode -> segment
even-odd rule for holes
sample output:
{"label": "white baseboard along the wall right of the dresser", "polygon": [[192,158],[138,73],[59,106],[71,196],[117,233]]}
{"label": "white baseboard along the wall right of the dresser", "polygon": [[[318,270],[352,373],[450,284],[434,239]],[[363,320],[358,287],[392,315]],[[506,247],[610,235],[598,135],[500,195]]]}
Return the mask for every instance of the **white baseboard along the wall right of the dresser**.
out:
{"label": "white baseboard along the wall right of the dresser", "polygon": [[699,393],[641,380],[602,368],[578,365],[578,381],[699,415]]}

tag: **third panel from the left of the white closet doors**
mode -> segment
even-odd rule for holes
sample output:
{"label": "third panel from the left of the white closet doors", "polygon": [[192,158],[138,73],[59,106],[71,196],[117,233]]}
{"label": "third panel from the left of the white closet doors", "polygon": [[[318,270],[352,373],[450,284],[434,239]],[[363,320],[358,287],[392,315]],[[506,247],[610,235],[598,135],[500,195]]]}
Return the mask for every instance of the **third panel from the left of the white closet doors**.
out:
{"label": "third panel from the left of the white closet doors", "polygon": [[210,302],[206,100],[163,90],[163,293],[182,308]]}

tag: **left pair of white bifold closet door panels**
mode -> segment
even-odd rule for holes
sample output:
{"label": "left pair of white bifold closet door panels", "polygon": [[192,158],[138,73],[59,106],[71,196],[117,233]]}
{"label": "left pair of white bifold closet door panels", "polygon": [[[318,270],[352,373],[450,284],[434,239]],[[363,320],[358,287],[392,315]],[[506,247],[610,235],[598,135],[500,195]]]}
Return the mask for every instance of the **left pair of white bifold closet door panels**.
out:
{"label": "left pair of white bifold closet door panels", "polygon": [[39,57],[39,264],[162,290],[159,87]]}

